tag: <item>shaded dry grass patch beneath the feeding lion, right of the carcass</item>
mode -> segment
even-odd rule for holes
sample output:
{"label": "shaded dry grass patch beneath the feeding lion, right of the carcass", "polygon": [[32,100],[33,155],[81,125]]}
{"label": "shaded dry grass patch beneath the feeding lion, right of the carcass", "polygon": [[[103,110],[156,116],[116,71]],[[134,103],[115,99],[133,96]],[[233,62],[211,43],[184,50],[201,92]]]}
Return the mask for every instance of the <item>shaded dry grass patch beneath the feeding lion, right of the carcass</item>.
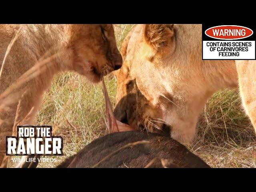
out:
{"label": "shaded dry grass patch beneath the feeding lion, right of the carcass", "polygon": [[256,167],[256,136],[238,90],[212,96],[199,118],[190,150],[212,167]]}

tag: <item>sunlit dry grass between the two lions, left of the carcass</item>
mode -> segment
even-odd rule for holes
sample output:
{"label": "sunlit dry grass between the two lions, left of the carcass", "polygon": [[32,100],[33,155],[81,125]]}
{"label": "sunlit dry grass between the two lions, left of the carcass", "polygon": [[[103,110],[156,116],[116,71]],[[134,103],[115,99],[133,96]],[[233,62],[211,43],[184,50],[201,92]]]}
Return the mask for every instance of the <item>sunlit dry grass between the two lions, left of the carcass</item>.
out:
{"label": "sunlit dry grass between the two lions, left of the carcass", "polygon": [[[132,26],[114,25],[118,47]],[[110,74],[105,82],[114,107],[116,80]],[[64,156],[58,156],[56,164],[107,133],[101,84],[92,84],[76,73],[60,74],[54,78],[43,101],[37,124],[52,125],[54,134],[64,140]],[[38,167],[54,167],[56,164],[40,163]]]}

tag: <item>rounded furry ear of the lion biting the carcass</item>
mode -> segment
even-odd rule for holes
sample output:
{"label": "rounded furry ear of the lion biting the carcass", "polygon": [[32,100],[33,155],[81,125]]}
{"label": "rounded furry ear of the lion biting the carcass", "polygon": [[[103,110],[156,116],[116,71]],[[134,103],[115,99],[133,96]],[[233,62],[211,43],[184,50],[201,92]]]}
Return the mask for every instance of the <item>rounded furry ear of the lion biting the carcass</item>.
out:
{"label": "rounded furry ear of the lion biting the carcass", "polygon": [[144,39],[155,50],[167,46],[174,36],[174,24],[145,24]]}

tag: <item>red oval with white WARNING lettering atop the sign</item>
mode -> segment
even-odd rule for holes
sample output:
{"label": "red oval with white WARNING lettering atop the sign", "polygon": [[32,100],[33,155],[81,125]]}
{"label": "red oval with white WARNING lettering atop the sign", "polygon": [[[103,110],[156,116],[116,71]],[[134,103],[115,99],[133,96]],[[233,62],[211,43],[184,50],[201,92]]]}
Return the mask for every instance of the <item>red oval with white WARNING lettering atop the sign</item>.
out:
{"label": "red oval with white WARNING lettering atop the sign", "polygon": [[236,25],[222,25],[208,28],[205,34],[216,39],[243,39],[251,36],[253,31],[247,27]]}

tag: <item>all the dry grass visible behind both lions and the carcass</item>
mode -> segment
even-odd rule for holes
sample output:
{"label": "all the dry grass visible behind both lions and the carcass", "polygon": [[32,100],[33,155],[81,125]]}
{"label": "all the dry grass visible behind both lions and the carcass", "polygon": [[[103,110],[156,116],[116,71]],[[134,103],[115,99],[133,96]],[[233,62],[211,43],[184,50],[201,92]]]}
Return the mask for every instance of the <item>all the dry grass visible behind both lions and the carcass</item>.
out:
{"label": "all the dry grass visible behind both lions and the carcass", "polygon": [[[117,44],[132,25],[115,25]],[[109,75],[106,87],[115,104],[116,81]],[[64,139],[64,156],[58,162],[40,163],[54,167],[92,140],[106,133],[104,96],[101,84],[91,84],[75,73],[60,74],[44,95],[37,124],[52,125],[54,134]],[[256,167],[256,137],[244,114],[237,90],[212,96],[198,121],[198,136],[188,148],[212,167]]]}

